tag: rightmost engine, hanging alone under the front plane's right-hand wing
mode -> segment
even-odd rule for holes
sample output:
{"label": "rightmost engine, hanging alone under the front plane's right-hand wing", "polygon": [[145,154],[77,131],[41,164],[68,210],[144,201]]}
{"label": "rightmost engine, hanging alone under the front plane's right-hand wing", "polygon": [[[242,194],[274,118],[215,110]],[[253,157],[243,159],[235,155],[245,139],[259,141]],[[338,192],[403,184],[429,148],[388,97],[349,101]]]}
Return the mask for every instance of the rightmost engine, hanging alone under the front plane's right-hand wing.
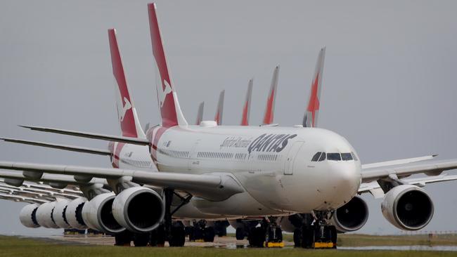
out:
{"label": "rightmost engine, hanging alone under the front plane's right-hand wing", "polygon": [[382,215],[402,230],[420,230],[433,216],[433,202],[425,190],[416,185],[392,188],[381,204]]}

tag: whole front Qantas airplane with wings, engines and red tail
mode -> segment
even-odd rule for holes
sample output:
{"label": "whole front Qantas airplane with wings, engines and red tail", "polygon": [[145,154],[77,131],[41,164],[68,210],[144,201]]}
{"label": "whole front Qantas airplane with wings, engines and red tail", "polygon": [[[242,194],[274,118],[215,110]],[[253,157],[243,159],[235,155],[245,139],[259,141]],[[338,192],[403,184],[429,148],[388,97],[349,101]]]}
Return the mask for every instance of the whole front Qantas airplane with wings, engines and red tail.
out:
{"label": "whole front Qantas airplane with wings, engines and red tail", "polygon": [[[162,83],[157,87],[161,124],[148,129],[146,138],[25,127],[148,147],[157,172],[21,162],[0,162],[0,169],[26,171],[23,176],[33,173],[35,177],[63,174],[79,181],[104,178],[120,189],[111,195],[111,220],[127,230],[149,233],[156,241],[162,237],[170,246],[184,245],[184,228],[173,227],[172,216],[188,206],[223,218],[262,217],[262,225],[253,228],[249,239],[258,247],[281,241],[278,221],[297,213],[313,217],[311,223],[289,220],[300,246],[335,247],[337,230],[352,231],[366,222],[366,204],[356,196],[363,192],[384,198],[382,213],[397,228],[419,230],[430,222],[433,203],[420,186],[449,180],[439,174],[456,169],[457,159],[424,162],[432,157],[420,157],[363,166],[349,142],[326,129],[218,126],[215,121],[188,125],[169,76],[155,4],[148,5],[148,14]],[[406,178],[417,173],[430,178],[413,182]],[[137,185],[129,187],[131,183]],[[162,192],[150,187],[160,187]],[[95,199],[89,204],[100,209]],[[181,204],[172,209],[174,201]]]}

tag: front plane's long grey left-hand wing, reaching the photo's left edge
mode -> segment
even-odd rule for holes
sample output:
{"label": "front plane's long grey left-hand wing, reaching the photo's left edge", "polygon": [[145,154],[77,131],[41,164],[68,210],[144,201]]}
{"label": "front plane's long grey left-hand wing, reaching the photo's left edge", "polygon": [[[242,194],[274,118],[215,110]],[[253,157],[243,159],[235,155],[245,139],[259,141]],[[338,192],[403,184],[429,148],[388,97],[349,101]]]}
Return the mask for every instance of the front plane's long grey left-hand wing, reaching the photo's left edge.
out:
{"label": "front plane's long grey left-hand wing, reaching the photo's left edge", "polygon": [[0,162],[0,169],[30,171],[33,173],[77,175],[93,179],[125,178],[134,183],[183,190],[197,197],[202,197],[212,201],[221,201],[237,193],[244,192],[243,187],[241,187],[235,178],[228,173],[196,175],[188,173],[150,172],[129,169],[33,164],[24,162]]}

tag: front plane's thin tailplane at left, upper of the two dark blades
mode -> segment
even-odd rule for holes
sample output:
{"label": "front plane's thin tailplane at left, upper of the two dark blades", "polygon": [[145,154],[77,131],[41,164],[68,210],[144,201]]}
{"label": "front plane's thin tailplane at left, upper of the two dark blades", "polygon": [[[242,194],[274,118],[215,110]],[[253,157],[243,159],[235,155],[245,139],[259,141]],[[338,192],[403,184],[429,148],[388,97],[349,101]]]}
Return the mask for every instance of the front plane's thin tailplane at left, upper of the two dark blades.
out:
{"label": "front plane's thin tailplane at left, upper of the two dark blades", "polygon": [[114,142],[129,143],[129,144],[134,144],[134,145],[149,145],[149,141],[146,138],[129,138],[127,136],[111,136],[111,135],[105,135],[105,134],[99,134],[99,133],[46,128],[43,126],[20,125],[20,127],[25,128],[25,129],[31,129],[32,131],[57,133],[57,134],[63,134],[63,135],[68,135],[68,136],[78,136],[78,137],[82,137],[82,138],[108,140],[108,141],[114,141]]}

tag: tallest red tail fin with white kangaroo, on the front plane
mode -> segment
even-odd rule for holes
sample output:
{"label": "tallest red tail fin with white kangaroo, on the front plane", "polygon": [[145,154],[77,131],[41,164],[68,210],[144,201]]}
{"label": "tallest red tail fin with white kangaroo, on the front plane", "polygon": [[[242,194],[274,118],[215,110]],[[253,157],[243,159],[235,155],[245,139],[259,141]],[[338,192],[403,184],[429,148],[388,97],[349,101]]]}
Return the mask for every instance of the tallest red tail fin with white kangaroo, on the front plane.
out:
{"label": "tallest red tail fin with white kangaroo, on the front plane", "polygon": [[160,73],[160,83],[157,84],[157,100],[162,118],[162,126],[186,126],[188,123],[179,107],[178,97],[172,78],[169,74],[167,58],[163,48],[162,34],[160,33],[155,4],[148,4],[150,39],[153,46],[153,55]]}

